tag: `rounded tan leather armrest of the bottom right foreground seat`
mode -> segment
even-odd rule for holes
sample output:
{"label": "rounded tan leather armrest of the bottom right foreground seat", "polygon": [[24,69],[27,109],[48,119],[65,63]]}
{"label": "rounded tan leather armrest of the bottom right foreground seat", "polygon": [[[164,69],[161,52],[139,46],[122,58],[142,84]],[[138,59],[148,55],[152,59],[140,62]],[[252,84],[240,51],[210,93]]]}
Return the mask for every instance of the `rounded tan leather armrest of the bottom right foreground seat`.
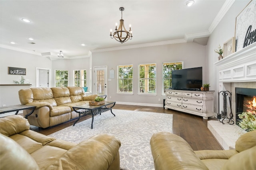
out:
{"label": "rounded tan leather armrest of the bottom right foreground seat", "polygon": [[150,147],[155,170],[208,170],[190,145],[178,135],[155,133],[150,139]]}

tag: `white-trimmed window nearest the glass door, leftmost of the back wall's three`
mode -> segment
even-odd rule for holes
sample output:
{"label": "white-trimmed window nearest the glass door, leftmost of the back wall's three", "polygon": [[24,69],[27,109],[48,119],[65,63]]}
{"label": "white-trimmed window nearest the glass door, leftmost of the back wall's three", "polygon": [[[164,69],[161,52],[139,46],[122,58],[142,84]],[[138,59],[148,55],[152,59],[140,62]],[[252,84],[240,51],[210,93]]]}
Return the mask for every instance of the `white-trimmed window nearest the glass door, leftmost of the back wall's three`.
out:
{"label": "white-trimmed window nearest the glass door, leftmost of the back wall's three", "polygon": [[118,93],[133,92],[133,65],[118,66]]}

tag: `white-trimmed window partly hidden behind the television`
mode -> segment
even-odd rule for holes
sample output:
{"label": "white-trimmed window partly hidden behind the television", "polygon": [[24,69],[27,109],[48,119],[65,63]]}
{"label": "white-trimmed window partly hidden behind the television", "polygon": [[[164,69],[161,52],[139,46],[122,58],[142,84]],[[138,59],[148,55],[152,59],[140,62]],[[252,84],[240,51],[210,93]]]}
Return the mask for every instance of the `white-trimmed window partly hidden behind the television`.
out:
{"label": "white-trimmed window partly hidden behind the television", "polygon": [[183,68],[183,62],[163,63],[163,85],[162,91],[172,87],[172,70],[180,70]]}

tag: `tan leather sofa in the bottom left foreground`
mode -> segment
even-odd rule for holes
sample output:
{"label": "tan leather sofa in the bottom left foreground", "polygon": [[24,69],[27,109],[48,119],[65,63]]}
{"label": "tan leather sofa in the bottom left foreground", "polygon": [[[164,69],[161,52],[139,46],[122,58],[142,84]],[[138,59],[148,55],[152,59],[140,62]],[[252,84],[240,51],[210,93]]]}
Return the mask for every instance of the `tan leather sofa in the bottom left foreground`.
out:
{"label": "tan leather sofa in the bottom left foreground", "polygon": [[1,170],[120,170],[120,140],[100,134],[79,144],[30,130],[21,115],[0,118]]}

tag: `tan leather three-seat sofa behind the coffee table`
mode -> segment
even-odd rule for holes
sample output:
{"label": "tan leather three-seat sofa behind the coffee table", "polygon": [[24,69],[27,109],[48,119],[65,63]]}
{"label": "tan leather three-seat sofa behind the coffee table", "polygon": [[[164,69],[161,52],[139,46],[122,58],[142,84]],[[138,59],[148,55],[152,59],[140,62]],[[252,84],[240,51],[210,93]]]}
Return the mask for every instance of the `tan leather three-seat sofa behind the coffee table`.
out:
{"label": "tan leather three-seat sofa behind the coffee table", "polygon": [[[36,106],[30,125],[46,128],[78,117],[73,106],[89,104],[97,95],[85,96],[82,87],[29,88],[19,90],[20,103]],[[29,110],[24,110],[24,116]]]}

